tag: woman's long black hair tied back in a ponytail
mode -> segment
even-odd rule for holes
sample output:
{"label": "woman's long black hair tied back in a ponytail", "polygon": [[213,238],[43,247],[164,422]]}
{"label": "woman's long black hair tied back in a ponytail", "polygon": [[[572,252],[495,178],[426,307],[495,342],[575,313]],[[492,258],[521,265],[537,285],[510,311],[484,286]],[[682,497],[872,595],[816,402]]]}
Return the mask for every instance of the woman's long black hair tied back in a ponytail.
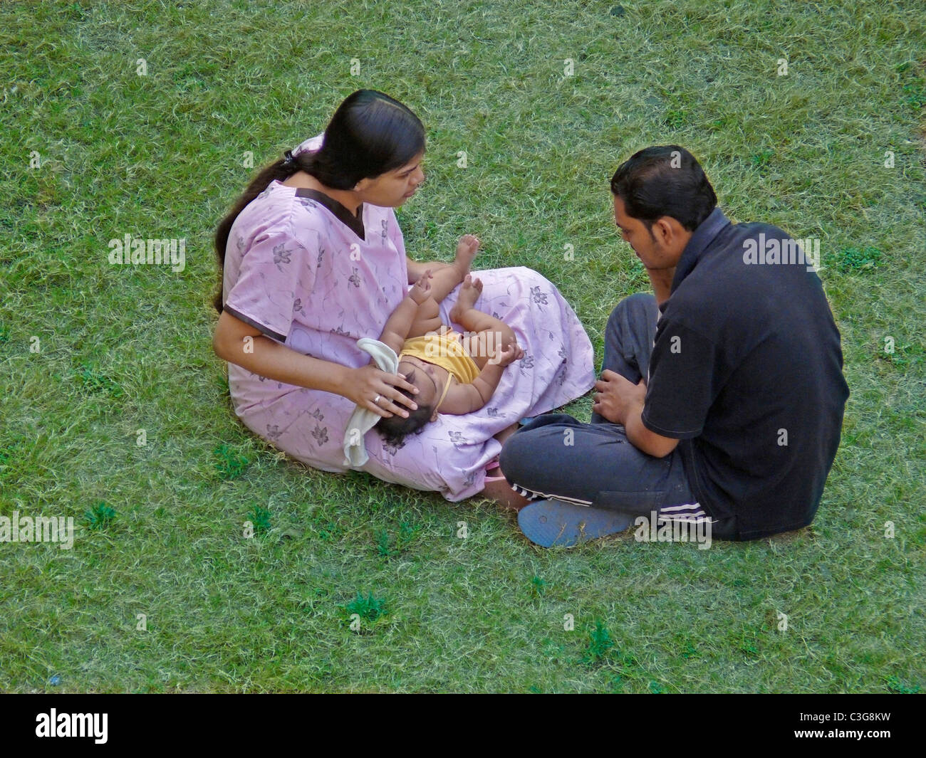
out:
{"label": "woman's long black hair tied back in a ponytail", "polygon": [[225,248],[234,219],[273,180],[287,180],[306,171],[333,190],[352,190],[362,179],[372,179],[407,164],[424,150],[424,126],[419,118],[388,94],[357,90],[334,111],[321,148],[285,157],[260,169],[244,194],[216,230],[219,293],[214,304],[222,312],[222,271]]}

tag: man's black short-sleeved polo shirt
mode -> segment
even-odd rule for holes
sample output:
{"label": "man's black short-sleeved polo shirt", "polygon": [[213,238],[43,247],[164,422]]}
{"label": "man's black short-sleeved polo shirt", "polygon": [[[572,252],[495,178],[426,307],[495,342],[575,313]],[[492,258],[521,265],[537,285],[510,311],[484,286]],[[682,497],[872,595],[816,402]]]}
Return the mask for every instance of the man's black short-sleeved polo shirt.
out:
{"label": "man's black short-sleeved polo shirt", "polygon": [[849,389],[820,278],[803,255],[764,255],[790,239],[715,208],[659,307],[643,423],[681,440],[698,502],[735,517],[732,539],[806,527],[839,447]]}

